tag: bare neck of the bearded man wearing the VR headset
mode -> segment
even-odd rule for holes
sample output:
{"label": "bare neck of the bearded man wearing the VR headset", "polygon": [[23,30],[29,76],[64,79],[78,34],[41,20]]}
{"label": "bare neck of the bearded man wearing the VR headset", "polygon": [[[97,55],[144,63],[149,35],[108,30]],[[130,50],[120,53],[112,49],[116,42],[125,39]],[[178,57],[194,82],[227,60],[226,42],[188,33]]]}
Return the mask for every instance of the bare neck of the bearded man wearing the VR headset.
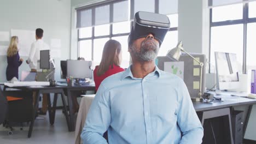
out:
{"label": "bare neck of the bearded man wearing the VR headset", "polygon": [[155,62],[132,62],[131,72],[133,77],[144,78],[155,70]]}

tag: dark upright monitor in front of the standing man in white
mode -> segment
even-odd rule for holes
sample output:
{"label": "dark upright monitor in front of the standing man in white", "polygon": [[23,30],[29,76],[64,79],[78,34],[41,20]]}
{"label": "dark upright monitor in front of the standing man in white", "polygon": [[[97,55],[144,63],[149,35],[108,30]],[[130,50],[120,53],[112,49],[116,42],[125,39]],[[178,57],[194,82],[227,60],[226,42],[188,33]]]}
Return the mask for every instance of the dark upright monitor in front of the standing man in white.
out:
{"label": "dark upright monitor in front of the standing man in white", "polygon": [[50,50],[40,51],[40,69],[50,69]]}

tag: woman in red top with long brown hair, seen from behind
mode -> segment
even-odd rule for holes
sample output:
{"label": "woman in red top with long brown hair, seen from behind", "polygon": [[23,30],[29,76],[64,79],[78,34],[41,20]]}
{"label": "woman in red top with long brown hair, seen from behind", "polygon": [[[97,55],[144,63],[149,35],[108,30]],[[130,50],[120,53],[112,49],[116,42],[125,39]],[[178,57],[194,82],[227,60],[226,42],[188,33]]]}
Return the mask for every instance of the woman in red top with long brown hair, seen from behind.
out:
{"label": "woman in red top with long brown hair, seen from behind", "polygon": [[104,45],[100,65],[94,70],[94,81],[96,91],[106,77],[124,71],[120,68],[122,59],[121,44],[117,40],[110,39]]}

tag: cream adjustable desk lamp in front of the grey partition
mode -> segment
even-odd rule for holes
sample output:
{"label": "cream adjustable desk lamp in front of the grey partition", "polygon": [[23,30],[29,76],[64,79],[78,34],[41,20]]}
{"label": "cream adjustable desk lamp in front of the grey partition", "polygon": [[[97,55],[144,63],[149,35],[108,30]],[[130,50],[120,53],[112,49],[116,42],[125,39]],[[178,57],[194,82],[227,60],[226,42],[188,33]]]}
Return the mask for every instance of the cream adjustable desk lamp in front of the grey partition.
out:
{"label": "cream adjustable desk lamp in front of the grey partition", "polygon": [[182,41],[179,41],[176,47],[173,49],[169,50],[167,52],[167,57],[173,59],[174,61],[179,61],[179,58],[181,57],[181,51],[185,52],[189,57],[193,58],[194,61],[200,64],[201,67],[201,73],[200,73],[200,87],[199,87],[199,93],[197,97],[191,98],[192,101],[202,101],[202,69],[203,69],[203,63],[197,61],[197,59],[193,56],[191,56],[187,51],[183,49],[183,44]]}

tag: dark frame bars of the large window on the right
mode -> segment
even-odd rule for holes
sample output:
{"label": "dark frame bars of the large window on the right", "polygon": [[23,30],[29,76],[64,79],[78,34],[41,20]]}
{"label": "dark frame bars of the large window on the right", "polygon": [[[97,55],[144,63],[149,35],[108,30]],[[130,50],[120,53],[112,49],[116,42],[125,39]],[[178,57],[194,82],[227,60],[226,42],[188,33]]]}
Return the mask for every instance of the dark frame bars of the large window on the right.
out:
{"label": "dark frame bars of the large window on the right", "polygon": [[[213,0],[209,0],[210,3],[212,3]],[[248,23],[254,23],[256,22],[256,17],[249,18],[249,3],[243,3],[243,10],[242,10],[242,19],[238,20],[226,20],[226,21],[218,21],[218,22],[212,22],[212,8],[210,8],[210,37],[209,37],[209,55],[208,59],[209,62],[211,62],[211,31],[212,27],[217,26],[229,26],[229,25],[237,25],[237,24],[243,24],[243,64],[242,64],[242,71],[243,74],[246,74],[246,59],[247,59],[247,24]],[[208,73],[211,73],[211,65],[208,65]]]}

